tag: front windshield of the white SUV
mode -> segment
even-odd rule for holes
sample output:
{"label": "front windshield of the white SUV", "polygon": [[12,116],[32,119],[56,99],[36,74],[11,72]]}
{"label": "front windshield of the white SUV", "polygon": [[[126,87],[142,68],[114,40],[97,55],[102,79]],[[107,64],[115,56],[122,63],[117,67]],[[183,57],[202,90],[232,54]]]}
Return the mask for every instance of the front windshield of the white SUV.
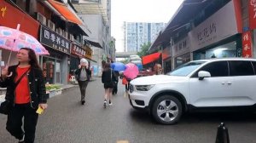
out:
{"label": "front windshield of the white SUV", "polygon": [[206,61],[191,61],[189,63],[178,66],[174,71],[167,73],[169,76],[188,76],[189,73],[193,72],[198,66],[205,63]]}

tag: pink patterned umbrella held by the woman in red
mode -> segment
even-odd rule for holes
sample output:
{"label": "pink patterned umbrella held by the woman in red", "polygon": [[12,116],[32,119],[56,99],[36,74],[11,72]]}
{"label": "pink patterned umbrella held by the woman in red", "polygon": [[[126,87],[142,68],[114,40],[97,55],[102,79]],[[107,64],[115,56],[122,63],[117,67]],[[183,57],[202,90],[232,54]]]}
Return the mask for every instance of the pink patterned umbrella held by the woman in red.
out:
{"label": "pink patterned umbrella held by the woman in red", "polygon": [[17,29],[0,26],[0,48],[8,49],[10,51],[19,51],[21,48],[30,48],[33,49],[36,54],[49,54],[35,37],[32,37],[23,31],[19,31],[19,29],[20,25],[17,26]]}

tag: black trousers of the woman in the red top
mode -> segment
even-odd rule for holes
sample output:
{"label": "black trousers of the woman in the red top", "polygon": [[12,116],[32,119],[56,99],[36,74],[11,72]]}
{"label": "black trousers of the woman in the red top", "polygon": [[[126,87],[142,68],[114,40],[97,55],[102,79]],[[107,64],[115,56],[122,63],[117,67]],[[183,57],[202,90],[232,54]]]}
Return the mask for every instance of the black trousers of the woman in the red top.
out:
{"label": "black trousers of the woman in the red top", "polygon": [[[25,134],[25,142],[33,143],[38,123],[38,113],[36,113],[36,110],[31,107],[30,103],[15,105],[9,112],[6,129],[18,140],[21,140],[23,134]],[[23,117],[24,131],[22,129]]]}

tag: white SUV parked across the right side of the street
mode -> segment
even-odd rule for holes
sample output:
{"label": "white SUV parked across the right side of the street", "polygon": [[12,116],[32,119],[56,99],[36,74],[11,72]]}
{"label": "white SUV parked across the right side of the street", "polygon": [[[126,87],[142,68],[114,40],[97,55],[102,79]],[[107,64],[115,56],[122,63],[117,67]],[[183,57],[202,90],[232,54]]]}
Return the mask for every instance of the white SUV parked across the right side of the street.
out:
{"label": "white SUV parked across the right side of the street", "polygon": [[195,60],[166,75],[132,80],[129,99],[131,106],[147,109],[158,123],[173,124],[189,109],[253,107],[255,85],[255,59]]}

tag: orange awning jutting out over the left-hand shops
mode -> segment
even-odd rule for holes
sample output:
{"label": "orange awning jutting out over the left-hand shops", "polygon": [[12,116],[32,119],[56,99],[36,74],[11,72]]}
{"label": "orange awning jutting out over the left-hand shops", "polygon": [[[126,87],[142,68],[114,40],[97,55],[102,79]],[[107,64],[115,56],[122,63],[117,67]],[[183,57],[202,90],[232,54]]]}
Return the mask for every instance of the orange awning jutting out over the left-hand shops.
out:
{"label": "orange awning jutting out over the left-hand shops", "polygon": [[48,0],[48,2],[62,14],[65,19],[78,25],[83,25],[83,22],[73,14],[64,3],[56,2],[55,0]]}

